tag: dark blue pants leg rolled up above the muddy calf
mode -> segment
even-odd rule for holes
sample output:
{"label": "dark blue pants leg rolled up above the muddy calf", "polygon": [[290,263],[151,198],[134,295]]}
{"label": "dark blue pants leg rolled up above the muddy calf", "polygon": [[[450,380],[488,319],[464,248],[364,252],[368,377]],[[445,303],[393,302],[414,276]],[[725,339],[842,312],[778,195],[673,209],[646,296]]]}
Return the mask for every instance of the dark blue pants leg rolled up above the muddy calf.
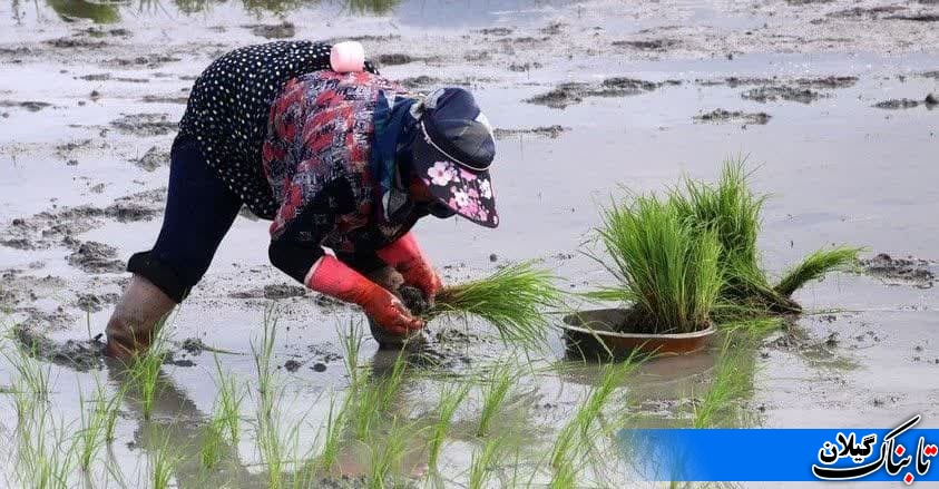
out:
{"label": "dark blue pants leg rolled up above the muddy calf", "polygon": [[237,195],[205,163],[196,140],[178,136],[159,237],[153,250],[131,256],[127,270],[182,302],[205,275],[241,207]]}

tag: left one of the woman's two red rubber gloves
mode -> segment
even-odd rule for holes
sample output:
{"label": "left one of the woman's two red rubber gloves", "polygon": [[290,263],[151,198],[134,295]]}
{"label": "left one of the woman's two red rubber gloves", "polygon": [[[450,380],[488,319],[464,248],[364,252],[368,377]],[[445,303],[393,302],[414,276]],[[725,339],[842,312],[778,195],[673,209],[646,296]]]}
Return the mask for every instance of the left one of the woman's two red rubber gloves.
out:
{"label": "left one of the woman's two red rubber gloves", "polygon": [[405,335],[423,327],[391,292],[365,278],[335,256],[325,255],[310,268],[306,286],[323,294],[362,306],[390,333]]}

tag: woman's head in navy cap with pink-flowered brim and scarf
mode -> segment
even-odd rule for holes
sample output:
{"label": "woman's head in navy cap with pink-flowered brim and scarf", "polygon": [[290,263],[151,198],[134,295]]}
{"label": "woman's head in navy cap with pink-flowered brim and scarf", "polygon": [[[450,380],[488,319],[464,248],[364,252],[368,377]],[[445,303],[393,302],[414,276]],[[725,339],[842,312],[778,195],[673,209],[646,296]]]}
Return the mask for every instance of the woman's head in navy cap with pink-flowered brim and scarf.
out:
{"label": "woman's head in navy cap with pink-flowered brim and scarf", "polygon": [[459,214],[487,227],[499,225],[489,167],[496,140],[472,95],[443,88],[427,97],[403,150],[410,193],[439,217]]}

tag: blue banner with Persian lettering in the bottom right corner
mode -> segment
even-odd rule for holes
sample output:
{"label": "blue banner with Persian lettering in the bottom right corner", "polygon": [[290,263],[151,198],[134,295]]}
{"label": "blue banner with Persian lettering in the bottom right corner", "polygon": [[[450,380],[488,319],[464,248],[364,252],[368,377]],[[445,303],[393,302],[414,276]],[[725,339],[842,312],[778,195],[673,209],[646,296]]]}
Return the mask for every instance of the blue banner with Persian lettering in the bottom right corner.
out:
{"label": "blue banner with Persian lettering in the bottom right corner", "polygon": [[636,429],[617,442],[647,481],[939,481],[939,430]]}

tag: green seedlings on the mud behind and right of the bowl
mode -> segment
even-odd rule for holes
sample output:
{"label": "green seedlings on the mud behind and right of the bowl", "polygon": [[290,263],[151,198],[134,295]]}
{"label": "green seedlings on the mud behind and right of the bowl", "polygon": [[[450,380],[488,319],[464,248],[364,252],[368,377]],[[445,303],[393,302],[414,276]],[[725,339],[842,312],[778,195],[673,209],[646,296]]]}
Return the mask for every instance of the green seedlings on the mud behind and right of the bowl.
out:
{"label": "green seedlings on the mud behind and right of the bowl", "polygon": [[853,264],[861,250],[837,246],[815,251],[772,285],[760,266],[756,247],[760,213],[767,195],[752,192],[747,178],[745,162],[727,162],[716,185],[686,179],[672,192],[671,203],[691,228],[714,233],[721,243],[720,264],[725,276],[722,315],[799,312],[792,294],[828,272]]}

